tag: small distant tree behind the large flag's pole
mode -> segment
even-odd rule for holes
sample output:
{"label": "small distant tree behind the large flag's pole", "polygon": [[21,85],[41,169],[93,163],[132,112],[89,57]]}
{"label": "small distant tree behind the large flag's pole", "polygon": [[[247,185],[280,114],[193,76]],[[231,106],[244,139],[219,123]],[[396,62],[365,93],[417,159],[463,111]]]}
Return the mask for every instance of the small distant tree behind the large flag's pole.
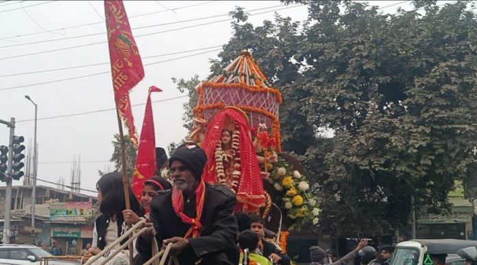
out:
{"label": "small distant tree behind the large flag's pole", "polygon": [[[127,178],[132,179],[134,174],[134,168],[136,167],[136,156],[137,149],[134,147],[129,135],[124,135],[124,141],[126,146],[126,172]],[[114,151],[110,159],[111,162],[114,162],[114,168],[118,172],[122,172],[122,163],[121,163],[121,141],[119,139],[119,134],[114,134],[114,141],[112,141],[112,146],[114,146]]]}

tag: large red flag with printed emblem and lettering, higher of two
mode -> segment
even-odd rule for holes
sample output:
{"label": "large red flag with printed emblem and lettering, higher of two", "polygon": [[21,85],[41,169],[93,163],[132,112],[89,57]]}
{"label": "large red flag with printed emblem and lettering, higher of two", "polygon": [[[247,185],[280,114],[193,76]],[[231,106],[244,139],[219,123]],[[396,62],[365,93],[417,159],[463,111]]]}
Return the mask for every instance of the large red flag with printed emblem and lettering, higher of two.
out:
{"label": "large red flag with printed emblem and lettering, higher of two", "polygon": [[129,130],[131,141],[137,144],[138,135],[134,129],[129,91],[144,78],[143,62],[140,60],[138,47],[127,21],[123,1],[104,1],[104,12],[108,30],[114,100],[119,115]]}

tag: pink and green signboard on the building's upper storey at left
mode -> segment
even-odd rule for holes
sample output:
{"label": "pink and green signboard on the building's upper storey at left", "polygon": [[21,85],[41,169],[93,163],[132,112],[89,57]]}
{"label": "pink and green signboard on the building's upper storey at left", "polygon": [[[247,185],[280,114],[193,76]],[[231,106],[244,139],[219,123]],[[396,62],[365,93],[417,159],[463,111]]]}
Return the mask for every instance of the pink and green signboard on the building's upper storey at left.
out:
{"label": "pink and green signboard on the building's upper storey at left", "polygon": [[82,203],[50,203],[50,219],[64,221],[84,221],[93,214],[93,204]]}

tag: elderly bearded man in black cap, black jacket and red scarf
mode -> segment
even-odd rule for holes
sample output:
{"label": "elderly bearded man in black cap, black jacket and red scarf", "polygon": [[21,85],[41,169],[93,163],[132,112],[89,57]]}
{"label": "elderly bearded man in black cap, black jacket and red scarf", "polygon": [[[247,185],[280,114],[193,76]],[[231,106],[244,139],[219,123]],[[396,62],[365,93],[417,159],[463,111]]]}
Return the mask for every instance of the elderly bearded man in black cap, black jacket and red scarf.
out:
{"label": "elderly bearded man in black cap, black jacket and red scarf", "polygon": [[151,255],[151,238],[162,247],[173,243],[171,254],[182,265],[237,264],[237,222],[232,215],[236,197],[225,185],[201,179],[207,157],[201,148],[182,146],[169,159],[174,187],[151,203],[149,229],[138,240],[138,251]]}

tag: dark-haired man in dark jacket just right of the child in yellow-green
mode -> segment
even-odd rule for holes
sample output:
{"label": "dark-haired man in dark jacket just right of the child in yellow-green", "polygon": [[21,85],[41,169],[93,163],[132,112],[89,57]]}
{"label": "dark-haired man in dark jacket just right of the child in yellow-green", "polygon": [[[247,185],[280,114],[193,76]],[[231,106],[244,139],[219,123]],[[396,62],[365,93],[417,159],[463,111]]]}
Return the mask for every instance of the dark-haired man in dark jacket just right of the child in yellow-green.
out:
{"label": "dark-haired man in dark jacket just right of the child in yellow-green", "polygon": [[265,240],[265,222],[263,219],[256,214],[252,214],[250,219],[250,229],[254,231],[259,238],[257,252],[259,252],[260,255],[269,258],[273,264],[289,265],[291,263],[290,257],[286,255],[286,253],[282,253],[282,251],[280,251],[274,244]]}

